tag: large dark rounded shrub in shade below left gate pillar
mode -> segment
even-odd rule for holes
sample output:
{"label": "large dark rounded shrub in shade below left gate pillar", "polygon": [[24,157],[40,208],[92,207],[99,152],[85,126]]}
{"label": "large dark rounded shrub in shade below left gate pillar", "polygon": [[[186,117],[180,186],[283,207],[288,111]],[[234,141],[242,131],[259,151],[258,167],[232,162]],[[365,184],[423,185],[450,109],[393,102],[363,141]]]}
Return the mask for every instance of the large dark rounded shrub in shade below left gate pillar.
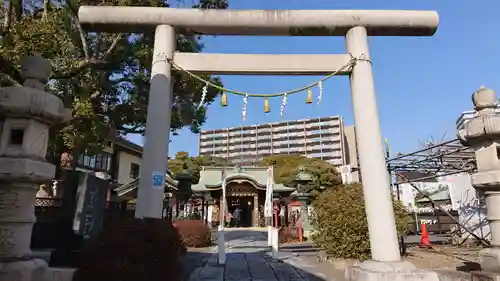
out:
{"label": "large dark rounded shrub in shade below left gate pillar", "polygon": [[171,222],[127,219],[83,249],[73,281],[181,281],[184,253]]}

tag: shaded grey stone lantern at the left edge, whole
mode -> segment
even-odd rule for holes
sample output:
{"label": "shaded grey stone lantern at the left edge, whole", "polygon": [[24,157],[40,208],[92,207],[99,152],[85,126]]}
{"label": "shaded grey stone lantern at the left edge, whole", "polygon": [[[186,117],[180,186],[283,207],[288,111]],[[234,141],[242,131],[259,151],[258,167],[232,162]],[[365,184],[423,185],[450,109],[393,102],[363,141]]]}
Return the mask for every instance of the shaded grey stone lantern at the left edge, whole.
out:
{"label": "shaded grey stone lantern at the left edge, whole", "polygon": [[71,118],[61,99],[45,91],[50,63],[29,56],[21,67],[23,86],[0,89],[0,281],[43,276],[46,264],[30,249],[36,193],[55,174],[45,160],[49,128]]}

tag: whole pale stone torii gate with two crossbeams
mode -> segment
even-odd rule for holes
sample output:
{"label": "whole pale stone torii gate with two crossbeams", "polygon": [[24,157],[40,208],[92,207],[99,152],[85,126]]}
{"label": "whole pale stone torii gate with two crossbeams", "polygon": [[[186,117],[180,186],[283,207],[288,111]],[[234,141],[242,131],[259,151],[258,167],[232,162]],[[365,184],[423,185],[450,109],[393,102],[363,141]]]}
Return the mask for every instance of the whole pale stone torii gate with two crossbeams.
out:
{"label": "whole pale stone torii gate with two crossbeams", "polygon": [[[339,70],[351,56],[362,58],[342,74],[350,75],[372,257],[381,262],[400,261],[368,36],[432,36],[439,22],[436,12],[84,6],[79,19],[95,31],[133,32],[156,27],[137,217],[161,217],[162,212],[163,184],[158,184],[167,163],[172,102],[168,60],[193,73],[325,75]],[[175,51],[176,28],[205,35],[345,36],[347,54],[179,53]]]}

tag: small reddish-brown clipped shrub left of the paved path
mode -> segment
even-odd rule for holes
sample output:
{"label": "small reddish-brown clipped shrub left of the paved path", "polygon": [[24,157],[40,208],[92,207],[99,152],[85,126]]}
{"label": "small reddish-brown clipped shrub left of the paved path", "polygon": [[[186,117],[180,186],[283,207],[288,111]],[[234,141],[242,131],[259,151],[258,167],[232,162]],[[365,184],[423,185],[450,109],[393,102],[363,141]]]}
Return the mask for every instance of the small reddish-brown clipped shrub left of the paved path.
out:
{"label": "small reddish-brown clipped shrub left of the paved path", "polygon": [[177,220],[175,227],[187,247],[201,248],[212,245],[210,228],[201,220]]}

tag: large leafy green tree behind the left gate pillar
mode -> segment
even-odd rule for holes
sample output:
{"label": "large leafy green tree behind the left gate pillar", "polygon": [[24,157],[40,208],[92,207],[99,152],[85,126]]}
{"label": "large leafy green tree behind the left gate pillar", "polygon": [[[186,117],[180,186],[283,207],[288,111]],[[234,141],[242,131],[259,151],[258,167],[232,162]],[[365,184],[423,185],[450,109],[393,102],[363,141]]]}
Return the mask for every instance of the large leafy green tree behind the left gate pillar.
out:
{"label": "large leafy green tree behind the left gate pillar", "polygon": [[[169,7],[156,0],[6,0],[0,12],[0,86],[19,85],[20,59],[35,53],[52,63],[47,88],[72,108],[73,119],[51,132],[51,149],[57,152],[96,151],[117,135],[142,134],[146,120],[149,70],[154,34],[109,34],[82,29],[82,5]],[[227,0],[200,0],[195,7],[224,9]],[[177,50],[200,52],[196,34],[177,35]],[[203,84],[185,73],[174,72],[171,130],[183,127],[198,132],[206,121],[206,106],[197,110]],[[216,84],[217,77],[204,76]],[[205,105],[220,92],[210,88]],[[60,159],[60,157],[59,157]]]}

